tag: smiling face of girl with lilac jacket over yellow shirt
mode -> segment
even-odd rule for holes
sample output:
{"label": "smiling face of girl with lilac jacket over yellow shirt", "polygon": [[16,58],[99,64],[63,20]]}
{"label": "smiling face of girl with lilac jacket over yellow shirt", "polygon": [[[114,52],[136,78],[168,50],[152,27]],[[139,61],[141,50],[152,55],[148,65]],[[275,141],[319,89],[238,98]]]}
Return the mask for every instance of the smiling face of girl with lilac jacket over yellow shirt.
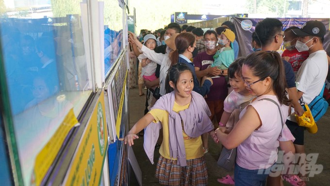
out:
{"label": "smiling face of girl with lilac jacket over yellow shirt", "polygon": [[177,96],[187,98],[191,95],[191,91],[194,88],[193,74],[189,70],[183,71],[180,74],[176,87],[172,81],[170,81],[170,85],[174,88]]}

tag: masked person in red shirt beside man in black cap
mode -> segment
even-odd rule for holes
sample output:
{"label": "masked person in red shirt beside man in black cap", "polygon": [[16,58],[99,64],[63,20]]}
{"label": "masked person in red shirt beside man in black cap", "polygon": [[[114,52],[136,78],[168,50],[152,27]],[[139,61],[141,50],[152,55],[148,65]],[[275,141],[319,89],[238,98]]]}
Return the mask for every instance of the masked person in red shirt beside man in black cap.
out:
{"label": "masked person in red shirt beside man in black cap", "polygon": [[299,28],[295,26],[289,27],[283,33],[283,45],[286,50],[282,53],[282,59],[291,64],[295,75],[297,75],[298,69],[300,68],[301,64],[308,58],[309,53],[308,51],[299,52],[296,49],[298,36],[292,32],[293,29]]}

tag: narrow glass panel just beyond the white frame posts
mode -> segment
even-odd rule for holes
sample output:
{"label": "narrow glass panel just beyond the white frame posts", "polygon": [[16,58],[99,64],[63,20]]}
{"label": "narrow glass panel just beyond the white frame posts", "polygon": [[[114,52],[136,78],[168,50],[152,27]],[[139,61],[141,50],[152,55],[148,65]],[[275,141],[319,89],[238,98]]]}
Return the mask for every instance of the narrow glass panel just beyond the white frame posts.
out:
{"label": "narrow glass panel just beyond the white frame posts", "polygon": [[123,10],[118,0],[104,0],[104,73],[120,54],[123,40]]}

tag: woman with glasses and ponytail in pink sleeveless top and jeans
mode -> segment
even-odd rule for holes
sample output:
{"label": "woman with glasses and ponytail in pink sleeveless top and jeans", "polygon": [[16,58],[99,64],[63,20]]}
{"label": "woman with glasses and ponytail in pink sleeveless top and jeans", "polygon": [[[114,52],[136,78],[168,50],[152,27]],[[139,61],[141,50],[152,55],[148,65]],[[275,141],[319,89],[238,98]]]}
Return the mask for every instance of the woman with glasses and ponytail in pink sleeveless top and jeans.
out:
{"label": "woman with glasses and ponytail in pink sleeveless top and jeans", "polygon": [[251,53],[243,63],[242,75],[248,92],[257,98],[241,112],[240,120],[229,134],[226,127],[216,129],[214,140],[227,149],[237,147],[235,186],[262,186],[269,170],[277,170],[280,141],[288,142],[284,143],[287,149],[293,147],[294,137],[287,133],[285,125],[290,101],[280,54]]}

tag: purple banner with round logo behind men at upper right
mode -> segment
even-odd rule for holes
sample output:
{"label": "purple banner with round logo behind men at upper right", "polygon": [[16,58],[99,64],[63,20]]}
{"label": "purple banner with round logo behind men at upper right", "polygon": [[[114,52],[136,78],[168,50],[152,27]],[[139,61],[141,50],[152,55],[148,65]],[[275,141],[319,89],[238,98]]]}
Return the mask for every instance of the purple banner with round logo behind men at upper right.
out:
{"label": "purple banner with round logo behind men at upper right", "polygon": [[[329,32],[329,18],[277,18],[283,24],[283,30],[296,26],[301,28],[301,26],[310,20],[321,21],[326,26],[326,34],[324,36],[323,47],[325,51],[330,49],[330,32]],[[233,17],[233,23],[236,28],[236,41],[239,44],[239,56],[246,57],[252,51],[251,47],[251,35],[255,31],[255,26],[259,21],[263,20],[262,18],[241,18]],[[284,50],[284,47],[281,46],[281,49]]]}

